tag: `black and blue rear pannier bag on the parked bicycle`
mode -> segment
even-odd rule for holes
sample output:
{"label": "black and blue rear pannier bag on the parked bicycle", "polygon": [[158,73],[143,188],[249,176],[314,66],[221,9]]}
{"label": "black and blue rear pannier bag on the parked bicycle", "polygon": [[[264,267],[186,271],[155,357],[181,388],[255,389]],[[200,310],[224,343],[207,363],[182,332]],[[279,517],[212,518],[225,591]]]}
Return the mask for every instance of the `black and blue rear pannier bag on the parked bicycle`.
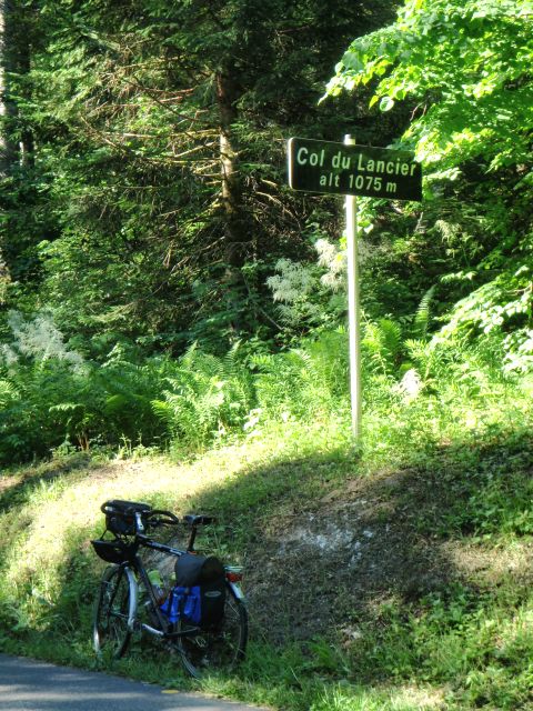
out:
{"label": "black and blue rear pannier bag on the parked bicycle", "polygon": [[225,571],[218,558],[185,553],[175,561],[175,585],[161,605],[170,622],[183,619],[204,630],[224,615]]}

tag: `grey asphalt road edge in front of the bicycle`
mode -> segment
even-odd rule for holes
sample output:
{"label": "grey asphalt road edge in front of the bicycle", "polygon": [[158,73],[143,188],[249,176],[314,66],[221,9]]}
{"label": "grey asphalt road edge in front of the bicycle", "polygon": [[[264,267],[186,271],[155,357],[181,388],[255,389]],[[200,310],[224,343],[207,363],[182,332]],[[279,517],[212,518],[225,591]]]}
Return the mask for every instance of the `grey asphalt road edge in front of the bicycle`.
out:
{"label": "grey asphalt road edge in front of the bicycle", "polygon": [[0,711],[258,711],[101,672],[0,654]]}

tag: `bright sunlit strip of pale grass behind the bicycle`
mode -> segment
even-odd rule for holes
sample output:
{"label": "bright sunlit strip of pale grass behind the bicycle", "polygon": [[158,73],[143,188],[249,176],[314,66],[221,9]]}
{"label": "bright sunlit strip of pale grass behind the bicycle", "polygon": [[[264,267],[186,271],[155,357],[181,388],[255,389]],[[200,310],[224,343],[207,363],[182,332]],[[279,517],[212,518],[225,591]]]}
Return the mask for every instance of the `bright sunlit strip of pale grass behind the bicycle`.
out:
{"label": "bright sunlit strip of pale grass behind the bicycle", "polygon": [[[310,433],[311,430],[311,433]],[[244,442],[208,452],[191,462],[171,463],[164,458],[118,460],[107,464],[87,464],[74,471],[27,477],[24,504],[18,509],[23,525],[9,512],[13,535],[2,545],[3,579],[9,599],[28,603],[38,614],[34,599],[53,604],[63,585],[61,569],[80,554],[91,554],[88,541],[103,530],[101,503],[107,499],[145,500],[154,507],[177,513],[190,510],[191,499],[224,489],[245,477],[261,462],[290,459],[316,447],[320,439],[312,428],[301,428],[300,440]],[[324,430],[321,430],[322,437]],[[294,442],[298,442],[294,444]],[[13,478],[13,485],[21,478]],[[95,562],[95,561],[93,561]],[[30,595],[28,599],[27,595]],[[30,618],[32,617],[29,612]]]}

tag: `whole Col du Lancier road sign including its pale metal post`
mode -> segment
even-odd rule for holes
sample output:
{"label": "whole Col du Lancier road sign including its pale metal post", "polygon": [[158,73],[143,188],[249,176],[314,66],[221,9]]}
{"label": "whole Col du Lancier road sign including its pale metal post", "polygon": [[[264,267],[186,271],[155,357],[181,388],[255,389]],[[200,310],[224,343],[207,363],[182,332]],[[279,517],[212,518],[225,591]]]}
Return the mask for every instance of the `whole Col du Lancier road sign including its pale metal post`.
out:
{"label": "whole Col du Lancier road sign including its pale metal post", "polygon": [[343,194],[346,210],[348,318],[352,434],[361,439],[361,319],[359,301],[358,207],[355,196],[422,200],[422,167],[413,153],[373,146],[291,138],[289,184],[294,190]]}

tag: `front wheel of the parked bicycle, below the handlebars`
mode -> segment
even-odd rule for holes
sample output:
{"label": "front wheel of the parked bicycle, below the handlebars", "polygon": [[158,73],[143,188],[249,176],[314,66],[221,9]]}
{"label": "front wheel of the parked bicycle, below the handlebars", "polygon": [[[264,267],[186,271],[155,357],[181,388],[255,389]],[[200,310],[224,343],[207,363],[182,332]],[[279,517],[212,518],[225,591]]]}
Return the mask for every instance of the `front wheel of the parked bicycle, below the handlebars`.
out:
{"label": "front wheel of the parked bicycle, below the handlebars", "polygon": [[124,565],[103,572],[94,605],[93,645],[99,657],[120,659],[130,643],[135,619],[137,588]]}

